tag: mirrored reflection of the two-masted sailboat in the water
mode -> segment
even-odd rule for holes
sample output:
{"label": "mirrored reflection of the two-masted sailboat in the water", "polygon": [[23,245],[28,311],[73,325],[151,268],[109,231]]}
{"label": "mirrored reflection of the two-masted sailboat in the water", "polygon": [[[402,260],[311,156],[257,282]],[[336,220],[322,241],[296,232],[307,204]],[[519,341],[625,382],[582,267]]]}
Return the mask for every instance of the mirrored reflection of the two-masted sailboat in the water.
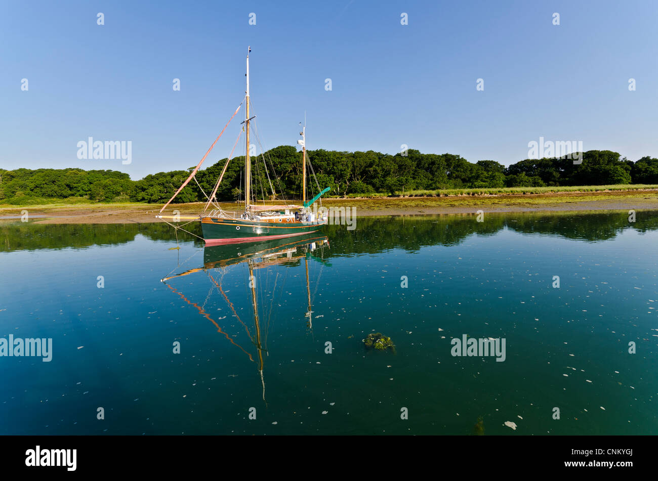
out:
{"label": "mirrored reflection of the two-masted sailboat in the water", "polygon": [[[267,350],[267,327],[269,325],[269,319],[272,316],[273,309],[275,308],[275,303],[270,302],[269,306],[264,306],[263,297],[268,294],[274,296],[274,290],[276,289],[276,280],[277,276],[274,279],[274,286],[270,288],[268,286],[268,279],[266,275],[259,276],[261,271],[271,271],[268,267],[283,265],[285,267],[301,267],[302,262],[305,268],[305,277],[306,277],[306,312],[304,314],[304,319],[306,321],[306,327],[311,334],[313,333],[313,306],[311,305],[311,282],[309,281],[309,260],[316,260],[320,263],[327,264],[327,261],[324,259],[325,249],[329,248],[329,239],[326,236],[309,234],[303,237],[297,237],[295,240],[288,239],[276,239],[270,240],[268,242],[257,242],[252,244],[225,244],[219,246],[207,246],[203,250],[203,267],[197,267],[195,269],[189,269],[182,273],[172,275],[170,277],[165,277],[161,279],[163,283],[166,284],[173,292],[178,294],[185,302],[194,306],[199,314],[203,315],[206,319],[211,321],[215,325],[217,332],[222,334],[226,339],[234,344],[237,348],[240,348],[249,359],[258,364],[258,372],[261,378],[261,384],[263,385],[263,401],[265,401],[265,378],[263,377],[263,368],[265,362],[263,360],[263,353],[265,356],[268,355]],[[249,277],[246,283],[247,289],[247,298],[251,300],[251,311],[253,312],[253,332],[249,330],[247,324],[240,319],[238,315],[238,310],[234,306],[233,302],[228,298],[224,286],[222,286],[222,280],[224,275],[232,267],[246,263],[249,271]],[[211,281],[211,290],[208,292],[208,295],[199,306],[195,302],[191,302],[182,292],[180,292],[174,286],[175,280],[179,277],[184,277],[187,275],[195,273],[206,273],[207,277]],[[261,277],[259,279],[259,277]],[[265,277],[265,279],[263,279]],[[222,296],[224,302],[231,309],[233,316],[240,324],[245,328],[251,344],[255,348],[255,357],[249,352],[249,348],[245,349],[240,344],[237,344],[236,341],[228,334],[224,332],[218,319],[213,319],[211,314],[206,311],[205,306],[207,305],[209,298],[214,290],[217,290]],[[261,309],[259,309],[261,306]],[[267,321],[263,326],[261,321],[261,313],[266,311],[265,315]],[[223,318],[222,318],[223,319]],[[227,318],[228,323],[232,323],[232,319]],[[227,321],[224,321],[227,323]]]}

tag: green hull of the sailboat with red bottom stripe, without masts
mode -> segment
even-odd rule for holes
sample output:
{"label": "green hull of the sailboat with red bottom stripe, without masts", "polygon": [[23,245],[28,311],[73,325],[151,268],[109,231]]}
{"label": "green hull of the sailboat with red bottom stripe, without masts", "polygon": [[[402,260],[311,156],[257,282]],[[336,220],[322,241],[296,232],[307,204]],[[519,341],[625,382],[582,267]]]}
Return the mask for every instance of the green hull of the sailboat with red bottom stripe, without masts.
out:
{"label": "green hull of the sailboat with red bottom stripe, without masts", "polygon": [[201,219],[203,240],[207,245],[236,244],[267,239],[282,239],[315,232],[326,221],[314,222],[263,222],[244,219]]}

